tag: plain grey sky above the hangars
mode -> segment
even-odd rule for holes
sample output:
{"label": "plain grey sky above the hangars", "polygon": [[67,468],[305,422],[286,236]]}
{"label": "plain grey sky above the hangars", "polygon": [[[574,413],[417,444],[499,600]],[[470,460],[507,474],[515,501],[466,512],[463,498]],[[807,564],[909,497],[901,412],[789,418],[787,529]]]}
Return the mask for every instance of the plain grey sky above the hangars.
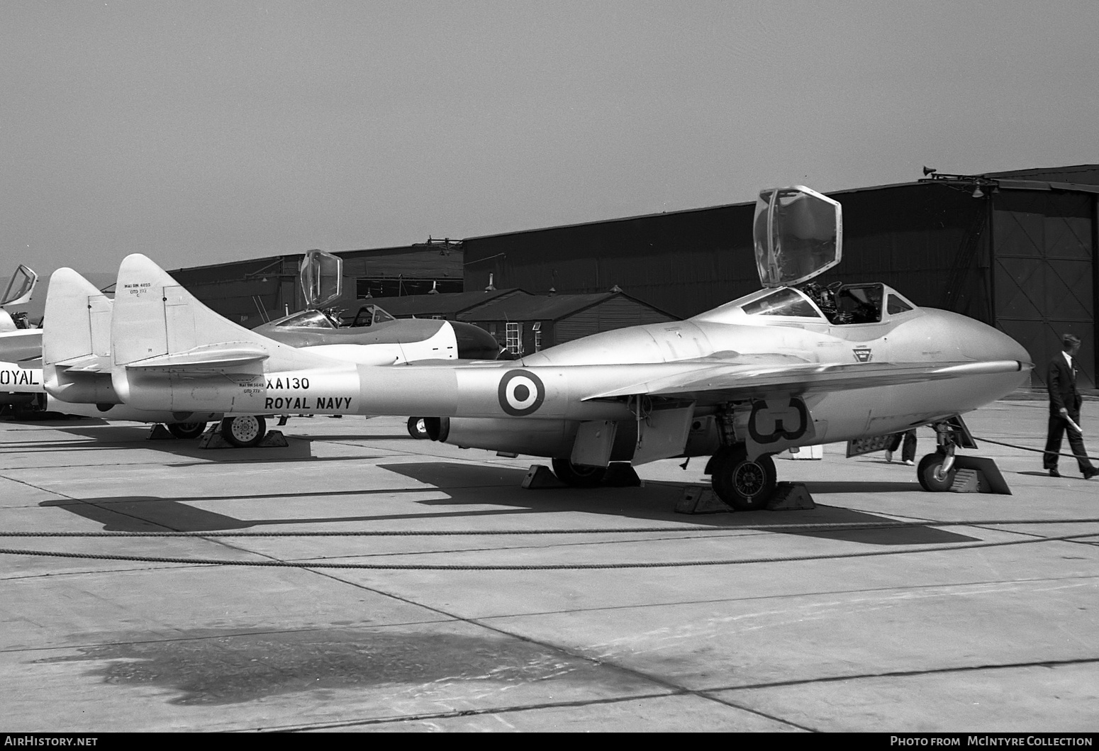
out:
{"label": "plain grey sky above the hangars", "polygon": [[1097,163],[1097,38],[1094,0],[4,0],[0,281]]}

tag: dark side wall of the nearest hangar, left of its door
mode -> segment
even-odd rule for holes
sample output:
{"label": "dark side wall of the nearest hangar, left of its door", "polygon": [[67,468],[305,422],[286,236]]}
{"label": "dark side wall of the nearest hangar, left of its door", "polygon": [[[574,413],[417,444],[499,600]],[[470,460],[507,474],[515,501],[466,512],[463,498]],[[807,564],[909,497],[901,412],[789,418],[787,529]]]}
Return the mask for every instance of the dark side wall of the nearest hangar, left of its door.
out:
{"label": "dark side wall of the nearest hangar, left of its door", "polygon": [[[940,307],[951,274],[985,210],[968,194],[914,184],[848,191],[844,262],[829,280],[885,281],[918,305]],[[466,289],[625,292],[681,317],[759,288],[752,249],[753,203],[471,238],[463,242]],[[988,319],[980,286],[957,292],[969,314]],[[986,310],[978,310],[984,305]]]}

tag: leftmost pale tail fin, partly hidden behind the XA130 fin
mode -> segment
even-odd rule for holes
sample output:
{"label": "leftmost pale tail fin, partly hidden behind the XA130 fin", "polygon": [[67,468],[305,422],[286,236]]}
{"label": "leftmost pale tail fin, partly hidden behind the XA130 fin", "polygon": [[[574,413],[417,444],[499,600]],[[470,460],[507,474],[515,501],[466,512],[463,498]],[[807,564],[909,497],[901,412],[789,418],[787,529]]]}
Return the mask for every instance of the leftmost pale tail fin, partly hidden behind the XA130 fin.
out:
{"label": "leftmost pale tail fin, partly hidden behind the XA130 fin", "polygon": [[51,396],[75,404],[119,404],[111,388],[110,298],[71,268],[49,277],[42,365]]}

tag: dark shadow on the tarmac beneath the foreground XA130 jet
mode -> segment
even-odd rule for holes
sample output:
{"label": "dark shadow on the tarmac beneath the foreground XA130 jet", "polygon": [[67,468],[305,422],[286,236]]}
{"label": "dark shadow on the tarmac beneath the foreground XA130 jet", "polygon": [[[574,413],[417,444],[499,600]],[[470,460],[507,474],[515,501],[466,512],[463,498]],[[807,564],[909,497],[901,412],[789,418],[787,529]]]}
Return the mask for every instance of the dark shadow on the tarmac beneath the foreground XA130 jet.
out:
{"label": "dark shadow on the tarmac beneath the foreground XA130 jet", "polygon": [[[644,519],[658,523],[687,522],[691,524],[712,526],[717,529],[736,530],[754,524],[779,526],[771,531],[802,537],[815,537],[833,540],[847,540],[865,544],[879,545],[912,545],[942,544],[951,542],[972,542],[975,538],[931,527],[902,527],[892,529],[869,530],[812,530],[799,529],[797,524],[804,523],[866,523],[890,521],[874,513],[855,511],[836,506],[818,505],[815,509],[800,511],[753,511],[736,513],[713,513],[685,516],[674,511],[676,501],[686,485],[677,483],[648,483],[644,487],[604,487],[604,488],[544,488],[524,490],[521,483],[525,471],[502,466],[478,466],[456,462],[419,462],[403,464],[378,465],[396,474],[415,479],[429,488],[404,489],[354,489],[354,490],[310,490],[306,493],[254,493],[230,496],[201,495],[193,497],[164,498],[158,496],[122,496],[87,498],[81,500],[47,500],[41,507],[60,508],[70,513],[102,524],[106,531],[180,531],[180,532],[214,532],[218,530],[241,530],[254,527],[296,526],[346,523],[352,529],[362,529],[369,522],[392,522],[408,520],[412,522],[430,522],[433,519],[502,517],[525,513],[559,513],[579,511],[584,513],[602,515],[617,519]],[[875,490],[909,489],[909,484],[886,483],[819,483],[810,485],[810,490],[829,493],[874,493]],[[825,490],[823,487],[829,486]],[[842,486],[846,489],[837,489]],[[896,487],[900,486],[900,488]],[[364,506],[369,504],[370,496],[376,494],[422,495],[437,489],[445,498],[413,498],[410,500],[408,513],[352,515],[340,517],[315,518],[270,518],[270,519],[236,519],[223,513],[192,506],[202,501],[213,500],[246,500],[263,498],[278,500],[285,498],[338,498],[349,501],[362,499]],[[492,508],[462,508],[463,506],[491,506]],[[439,507],[445,507],[443,510]],[[434,510],[439,508],[439,510]],[[415,509],[415,510],[412,510]],[[425,509],[425,510],[420,510]],[[368,509],[364,509],[368,510]],[[780,526],[789,524],[790,529]],[[609,524],[611,526],[611,524]]]}

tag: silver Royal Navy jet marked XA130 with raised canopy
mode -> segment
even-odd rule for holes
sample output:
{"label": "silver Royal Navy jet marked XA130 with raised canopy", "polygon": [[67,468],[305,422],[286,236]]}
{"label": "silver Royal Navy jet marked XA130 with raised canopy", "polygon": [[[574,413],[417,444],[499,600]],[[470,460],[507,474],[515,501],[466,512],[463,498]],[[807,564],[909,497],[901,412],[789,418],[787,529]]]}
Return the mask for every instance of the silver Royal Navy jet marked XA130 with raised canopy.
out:
{"label": "silver Royal Navy jet marked XA130 with raised canopy", "polygon": [[808,188],[761,194],[755,249],[764,289],[685,321],[596,334],[519,362],[396,367],[243,329],[131,255],[115,287],[111,385],[126,405],[180,419],[425,416],[436,440],[547,456],[575,485],[597,483],[612,462],[711,456],[717,494],[739,509],[766,502],[776,452],[932,424],[939,451],[919,476],[947,489],[958,440],[948,421],[1019,387],[1033,367],[1026,351],[882,284],[809,283],[840,262],[842,223],[840,205]]}

